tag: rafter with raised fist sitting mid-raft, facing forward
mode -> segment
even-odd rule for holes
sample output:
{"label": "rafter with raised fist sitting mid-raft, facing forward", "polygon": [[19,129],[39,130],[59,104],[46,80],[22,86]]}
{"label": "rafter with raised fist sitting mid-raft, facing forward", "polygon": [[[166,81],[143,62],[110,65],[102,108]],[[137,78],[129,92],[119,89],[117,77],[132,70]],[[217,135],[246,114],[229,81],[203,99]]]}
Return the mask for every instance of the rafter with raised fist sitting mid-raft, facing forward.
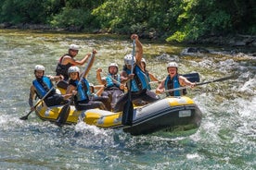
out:
{"label": "rafter with raised fist sitting mid-raft, facing forward", "polygon": [[100,75],[102,68],[97,68],[96,70],[97,81],[105,86],[102,95],[109,96],[112,109],[114,109],[114,106],[122,96],[124,90],[124,85],[121,83],[121,76],[118,73],[118,68],[116,63],[111,63],[109,65],[109,74],[106,75],[107,77],[105,78],[101,78]]}

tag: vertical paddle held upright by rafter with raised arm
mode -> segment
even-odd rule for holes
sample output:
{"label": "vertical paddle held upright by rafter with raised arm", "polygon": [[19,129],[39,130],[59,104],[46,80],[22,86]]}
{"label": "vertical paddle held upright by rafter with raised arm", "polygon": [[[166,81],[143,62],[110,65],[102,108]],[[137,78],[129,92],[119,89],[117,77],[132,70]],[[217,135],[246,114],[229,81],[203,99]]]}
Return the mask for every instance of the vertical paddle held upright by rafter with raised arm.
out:
{"label": "vertical paddle held upright by rafter with raised arm", "polygon": [[[132,62],[132,68],[131,68],[131,74],[134,72],[134,55],[135,55],[135,39],[133,42],[133,62]],[[122,125],[133,125],[133,119],[134,119],[134,104],[132,102],[132,80],[129,82],[129,88],[128,88],[128,100],[123,106],[122,111]]]}

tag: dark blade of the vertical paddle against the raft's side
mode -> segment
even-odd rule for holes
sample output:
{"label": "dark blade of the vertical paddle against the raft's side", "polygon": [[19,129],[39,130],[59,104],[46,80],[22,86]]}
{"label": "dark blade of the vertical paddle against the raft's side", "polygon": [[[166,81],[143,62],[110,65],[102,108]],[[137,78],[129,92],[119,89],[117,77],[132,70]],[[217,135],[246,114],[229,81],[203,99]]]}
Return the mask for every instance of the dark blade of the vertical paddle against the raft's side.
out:
{"label": "dark blade of the vertical paddle against the raft's side", "polygon": [[131,101],[127,101],[123,106],[122,112],[122,125],[133,125],[134,120],[134,104]]}

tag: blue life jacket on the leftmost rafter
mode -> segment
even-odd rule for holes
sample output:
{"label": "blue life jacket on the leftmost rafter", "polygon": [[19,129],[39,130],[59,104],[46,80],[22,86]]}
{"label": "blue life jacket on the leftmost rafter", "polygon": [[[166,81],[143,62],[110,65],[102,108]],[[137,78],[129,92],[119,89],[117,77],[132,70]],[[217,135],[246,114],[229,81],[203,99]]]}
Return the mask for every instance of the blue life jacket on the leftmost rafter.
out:
{"label": "blue life jacket on the leftmost rafter", "polygon": [[38,79],[34,79],[32,81],[32,84],[35,87],[36,93],[40,99],[42,99],[47,93],[47,91],[49,91],[53,87],[52,81],[48,77],[43,76],[42,81],[46,85],[45,88],[44,88],[44,85],[38,81]]}

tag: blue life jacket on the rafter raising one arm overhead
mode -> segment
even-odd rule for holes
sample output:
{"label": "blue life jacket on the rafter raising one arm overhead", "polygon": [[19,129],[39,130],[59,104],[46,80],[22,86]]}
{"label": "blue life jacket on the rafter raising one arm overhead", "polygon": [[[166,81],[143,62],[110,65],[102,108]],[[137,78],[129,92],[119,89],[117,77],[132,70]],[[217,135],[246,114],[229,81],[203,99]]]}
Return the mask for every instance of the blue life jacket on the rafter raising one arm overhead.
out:
{"label": "blue life jacket on the rafter raising one arm overhead", "polygon": [[[131,74],[131,70],[128,68],[125,68],[125,72],[129,75]],[[149,82],[147,78],[147,74],[141,70],[140,67],[136,66],[134,67],[134,79],[132,79],[132,88],[131,91],[138,92],[145,89],[148,89]]]}

